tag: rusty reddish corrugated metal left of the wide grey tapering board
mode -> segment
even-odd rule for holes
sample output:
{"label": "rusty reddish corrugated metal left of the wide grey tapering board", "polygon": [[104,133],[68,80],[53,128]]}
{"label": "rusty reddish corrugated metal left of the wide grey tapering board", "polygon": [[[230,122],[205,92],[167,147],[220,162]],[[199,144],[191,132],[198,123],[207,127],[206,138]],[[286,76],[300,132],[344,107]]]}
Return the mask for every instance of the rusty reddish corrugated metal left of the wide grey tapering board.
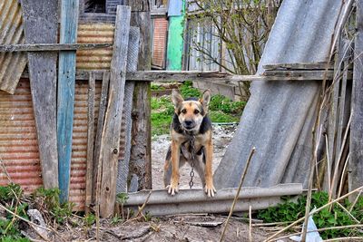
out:
{"label": "rusty reddish corrugated metal left of the wide grey tapering board", "polygon": [[[14,95],[0,92],[0,127],[0,159],[13,182],[30,193],[43,181],[28,80],[19,82]],[[0,185],[5,185],[8,179],[0,170]]]}

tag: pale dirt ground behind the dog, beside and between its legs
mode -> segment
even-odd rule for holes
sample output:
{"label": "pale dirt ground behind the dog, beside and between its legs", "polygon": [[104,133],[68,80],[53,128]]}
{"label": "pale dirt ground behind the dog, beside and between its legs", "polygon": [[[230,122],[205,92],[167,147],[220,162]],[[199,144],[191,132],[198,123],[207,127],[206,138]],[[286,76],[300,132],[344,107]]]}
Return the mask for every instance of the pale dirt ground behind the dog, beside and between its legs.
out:
{"label": "pale dirt ground behind the dog, beside and between its legs", "polygon": [[[213,172],[217,169],[221,159],[226,151],[237,125],[213,125]],[[152,189],[163,189],[162,182],[163,165],[165,162],[166,152],[170,145],[170,135],[165,134],[154,137],[152,139]],[[191,179],[191,166],[185,165],[181,169],[180,189],[189,189],[189,181]],[[196,173],[194,181],[195,189],[201,189],[201,179]]]}

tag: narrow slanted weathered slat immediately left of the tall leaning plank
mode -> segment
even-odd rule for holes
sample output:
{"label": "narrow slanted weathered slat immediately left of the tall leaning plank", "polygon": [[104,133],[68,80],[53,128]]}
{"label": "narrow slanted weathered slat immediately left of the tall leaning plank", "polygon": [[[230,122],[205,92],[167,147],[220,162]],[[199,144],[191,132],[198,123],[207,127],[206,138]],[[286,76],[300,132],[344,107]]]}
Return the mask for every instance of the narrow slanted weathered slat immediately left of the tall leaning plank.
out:
{"label": "narrow slanted weathered slat immediately left of the tall leaning plank", "polygon": [[[94,72],[93,72],[94,74]],[[110,73],[103,73],[103,82],[102,82],[102,90],[101,90],[101,100],[98,108],[98,120],[97,120],[97,131],[96,131],[96,139],[94,141],[94,153],[93,153],[93,191],[92,191],[92,202],[95,203],[96,199],[96,190],[97,190],[97,179],[98,169],[102,168],[102,164],[99,162],[100,160],[100,152],[101,152],[101,139],[103,133],[103,123],[104,123],[104,115],[107,107],[107,94],[110,83]],[[101,176],[101,175],[100,175]]]}

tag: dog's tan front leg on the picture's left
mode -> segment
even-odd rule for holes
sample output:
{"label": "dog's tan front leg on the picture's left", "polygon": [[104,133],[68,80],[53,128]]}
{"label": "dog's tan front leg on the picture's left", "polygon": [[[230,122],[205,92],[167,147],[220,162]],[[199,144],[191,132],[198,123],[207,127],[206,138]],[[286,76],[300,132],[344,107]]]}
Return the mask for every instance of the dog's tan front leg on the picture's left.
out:
{"label": "dog's tan front leg on the picture's left", "polygon": [[179,191],[179,161],[181,159],[181,144],[172,140],[172,179],[167,187],[168,193],[175,195]]}

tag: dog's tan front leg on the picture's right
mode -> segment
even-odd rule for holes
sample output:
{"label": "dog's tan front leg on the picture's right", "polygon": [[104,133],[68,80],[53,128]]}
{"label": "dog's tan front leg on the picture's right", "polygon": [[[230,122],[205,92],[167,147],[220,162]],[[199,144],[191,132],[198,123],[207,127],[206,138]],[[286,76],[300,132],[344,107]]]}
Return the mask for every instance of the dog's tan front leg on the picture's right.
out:
{"label": "dog's tan front leg on the picture's right", "polygon": [[205,146],[205,188],[204,191],[208,197],[214,197],[216,189],[213,185],[213,170],[211,169],[211,163],[213,160],[213,144],[211,140],[208,141]]}

